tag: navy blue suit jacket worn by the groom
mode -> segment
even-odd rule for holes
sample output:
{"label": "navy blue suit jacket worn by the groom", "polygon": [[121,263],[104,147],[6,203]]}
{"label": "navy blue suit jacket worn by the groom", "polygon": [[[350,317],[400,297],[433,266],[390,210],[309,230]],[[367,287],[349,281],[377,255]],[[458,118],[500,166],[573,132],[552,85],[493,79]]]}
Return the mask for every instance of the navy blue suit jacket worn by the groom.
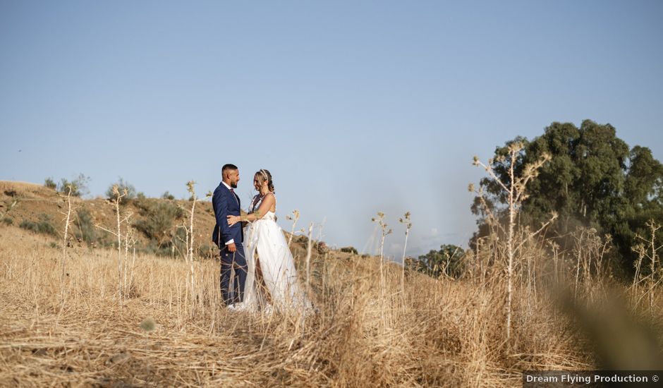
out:
{"label": "navy blue suit jacket worn by the groom", "polygon": [[212,241],[219,248],[226,246],[226,241],[230,240],[234,240],[236,244],[241,245],[244,241],[242,223],[238,222],[233,226],[228,226],[228,219],[226,218],[229,215],[240,215],[241,202],[239,197],[231,193],[226,185],[221,182],[214,190],[212,207],[214,207],[214,217],[217,219],[217,224],[214,225],[214,231],[212,231]]}

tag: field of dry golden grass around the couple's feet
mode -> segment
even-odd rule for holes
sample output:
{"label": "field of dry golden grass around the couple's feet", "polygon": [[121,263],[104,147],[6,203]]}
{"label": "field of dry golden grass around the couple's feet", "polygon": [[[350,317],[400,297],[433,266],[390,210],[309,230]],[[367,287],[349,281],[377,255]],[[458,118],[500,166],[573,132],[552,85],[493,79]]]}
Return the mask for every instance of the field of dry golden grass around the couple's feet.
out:
{"label": "field of dry golden grass around the couple's feet", "polygon": [[[408,271],[404,287],[390,264],[381,290],[379,257],[314,250],[307,279],[302,244],[293,253],[317,313],[262,315],[221,307],[213,259],[196,258],[191,287],[184,260],[129,253],[118,280],[117,250],[63,253],[55,237],[0,224],[0,386],[518,387],[523,370],[660,366],[659,291],[650,305],[637,287],[583,284],[588,301],[633,301],[599,332],[583,318],[592,310],[565,307],[544,275],[522,277],[506,339],[499,262],[460,280]],[[546,260],[537,249],[523,255]]]}

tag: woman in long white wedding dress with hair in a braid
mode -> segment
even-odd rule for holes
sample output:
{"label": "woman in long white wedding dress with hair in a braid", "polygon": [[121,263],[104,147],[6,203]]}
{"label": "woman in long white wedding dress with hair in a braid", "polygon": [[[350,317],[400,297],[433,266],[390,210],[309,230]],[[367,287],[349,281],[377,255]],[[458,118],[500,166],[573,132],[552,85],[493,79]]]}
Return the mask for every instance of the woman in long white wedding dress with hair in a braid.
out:
{"label": "woman in long white wedding dress with hair in a braid", "polygon": [[247,276],[242,309],[277,310],[310,308],[297,282],[293,255],[279,224],[276,224],[276,197],[272,174],[265,169],[255,173],[253,197],[248,214],[228,216],[228,224],[245,222],[244,252]]}

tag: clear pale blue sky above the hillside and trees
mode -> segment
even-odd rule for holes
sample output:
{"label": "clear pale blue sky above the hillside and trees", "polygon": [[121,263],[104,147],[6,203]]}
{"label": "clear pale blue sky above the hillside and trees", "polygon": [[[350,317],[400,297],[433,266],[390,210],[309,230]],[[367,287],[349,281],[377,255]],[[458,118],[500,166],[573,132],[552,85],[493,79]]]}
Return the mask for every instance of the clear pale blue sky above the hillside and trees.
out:
{"label": "clear pale blue sky above the hillside and trees", "polygon": [[[149,196],[272,171],[280,224],[466,245],[472,157],[553,121],[663,159],[661,1],[0,1],[0,179]],[[20,150],[20,152],[19,152]]]}

